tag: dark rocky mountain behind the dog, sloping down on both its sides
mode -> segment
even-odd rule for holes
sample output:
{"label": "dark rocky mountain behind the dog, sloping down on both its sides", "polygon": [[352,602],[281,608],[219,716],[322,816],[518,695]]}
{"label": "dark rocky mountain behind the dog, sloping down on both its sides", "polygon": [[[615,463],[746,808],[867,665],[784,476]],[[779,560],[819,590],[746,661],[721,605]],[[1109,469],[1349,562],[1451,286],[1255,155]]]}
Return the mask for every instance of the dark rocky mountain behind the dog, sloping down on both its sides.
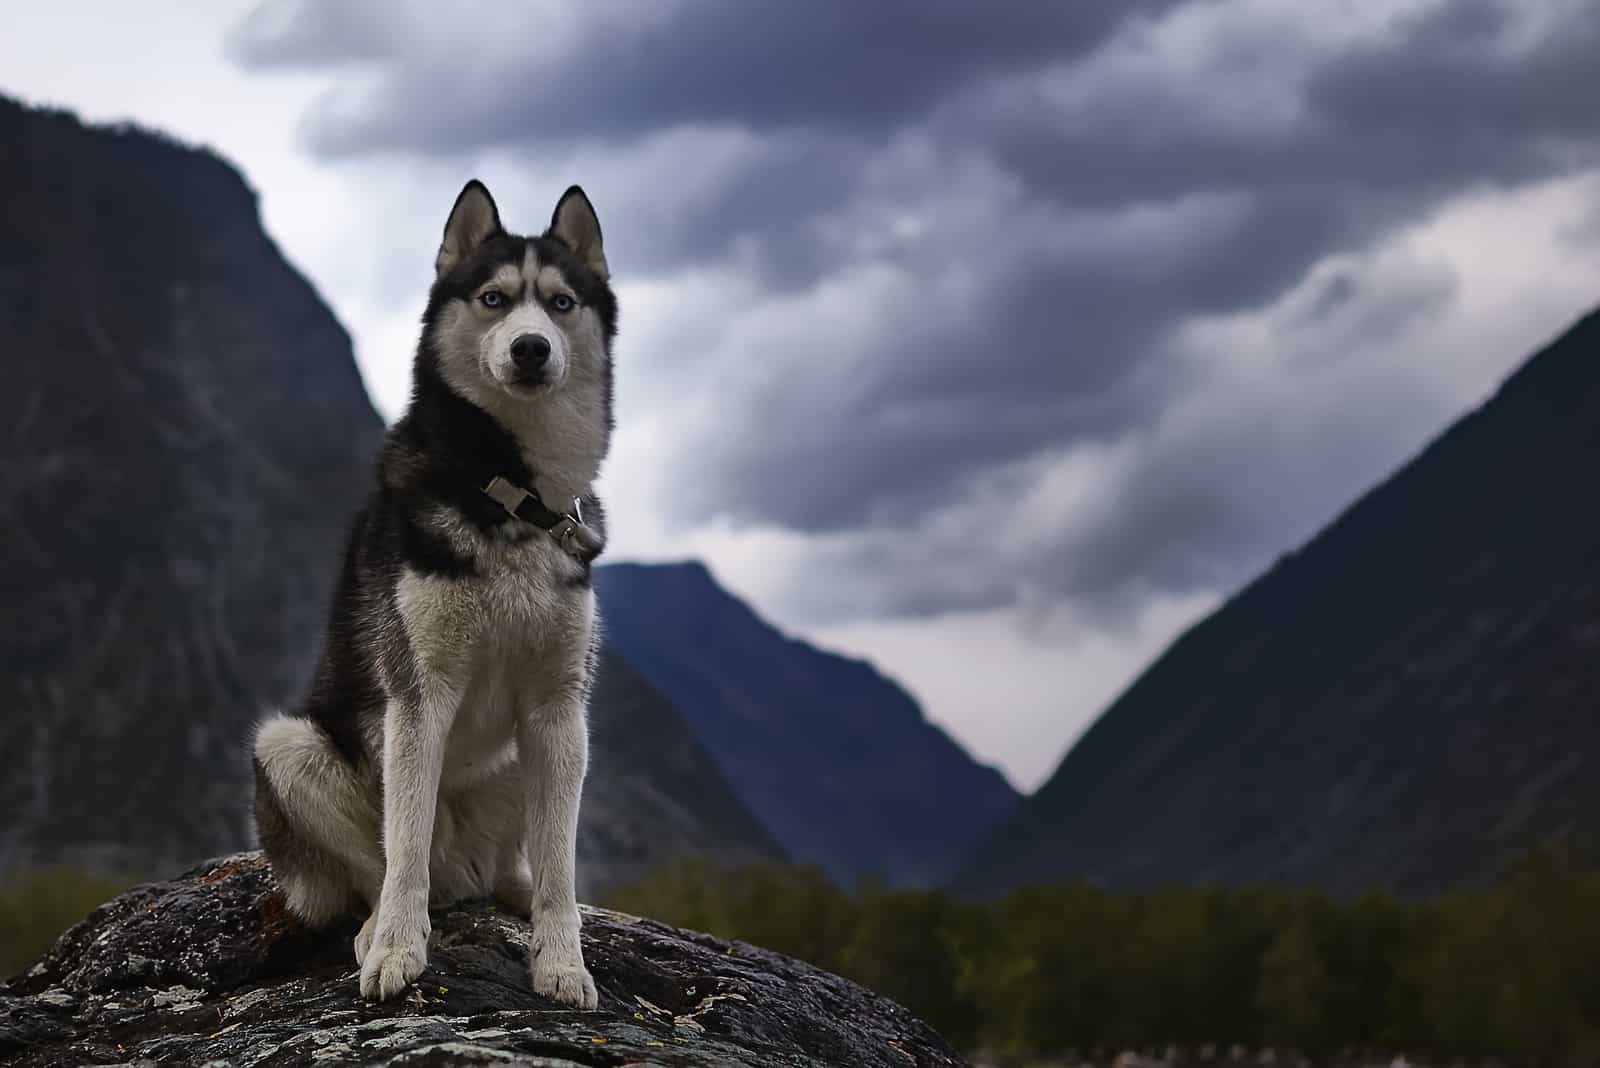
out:
{"label": "dark rocky mountain behind the dog, sloping down on both its sides", "polygon": [[[0,144],[0,876],[157,875],[253,839],[382,422],[227,163],[3,98]],[[587,891],[782,857],[616,656],[592,721]]]}

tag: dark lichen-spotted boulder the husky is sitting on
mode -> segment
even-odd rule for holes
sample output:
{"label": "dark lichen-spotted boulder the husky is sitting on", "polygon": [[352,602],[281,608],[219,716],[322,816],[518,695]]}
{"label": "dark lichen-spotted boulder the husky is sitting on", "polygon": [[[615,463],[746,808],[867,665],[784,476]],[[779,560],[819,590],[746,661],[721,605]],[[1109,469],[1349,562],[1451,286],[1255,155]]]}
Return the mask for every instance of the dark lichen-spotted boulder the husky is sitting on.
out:
{"label": "dark lichen-spotted boulder the husky is sitting on", "polygon": [[963,1065],[906,1009],[810,964],[584,908],[600,1009],[528,985],[526,924],[434,913],[400,999],[357,991],[354,921],[312,932],[261,854],[128,891],[0,986],[0,1062],[85,1065]]}

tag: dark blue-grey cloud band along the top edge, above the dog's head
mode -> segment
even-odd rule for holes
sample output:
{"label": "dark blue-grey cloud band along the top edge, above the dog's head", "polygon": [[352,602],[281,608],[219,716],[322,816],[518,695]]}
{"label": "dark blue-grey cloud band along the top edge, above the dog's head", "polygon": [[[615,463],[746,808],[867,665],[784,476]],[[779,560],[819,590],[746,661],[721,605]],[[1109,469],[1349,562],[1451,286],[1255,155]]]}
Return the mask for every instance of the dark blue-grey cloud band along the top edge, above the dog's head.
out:
{"label": "dark blue-grey cloud band along the top edge, above the dog's head", "polygon": [[[232,48],[258,67],[418,61],[386,70],[360,112],[314,118],[312,142],[328,155],[438,153],[528,136],[629,137],[677,123],[882,133],[973,80],[1082,53],[1128,13],[1160,6],[688,0],[662,5],[667,18],[638,5],[573,5],[541,18],[462,5],[450,16],[462,37],[405,42],[405,19],[382,19],[374,5],[301,0],[264,5]],[[541,53],[539,37],[552,34],[566,40]],[[462,38],[478,48],[458,51]],[[501,50],[506,42],[514,46]],[[483,64],[485,54],[494,62]],[[429,91],[418,93],[424,82]]]}

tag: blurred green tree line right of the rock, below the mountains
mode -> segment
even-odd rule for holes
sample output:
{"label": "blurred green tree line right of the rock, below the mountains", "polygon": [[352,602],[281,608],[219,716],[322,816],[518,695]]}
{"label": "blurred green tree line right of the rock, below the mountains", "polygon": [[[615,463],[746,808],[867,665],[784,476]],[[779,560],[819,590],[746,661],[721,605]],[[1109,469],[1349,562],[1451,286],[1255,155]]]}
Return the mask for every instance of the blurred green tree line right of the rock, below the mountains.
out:
{"label": "blurred green tree line right of the rock, below the mountains", "polygon": [[1600,878],[1550,852],[1430,900],[1069,883],[970,902],[682,862],[606,903],[854,978],[994,1060],[1237,1044],[1600,1065]]}

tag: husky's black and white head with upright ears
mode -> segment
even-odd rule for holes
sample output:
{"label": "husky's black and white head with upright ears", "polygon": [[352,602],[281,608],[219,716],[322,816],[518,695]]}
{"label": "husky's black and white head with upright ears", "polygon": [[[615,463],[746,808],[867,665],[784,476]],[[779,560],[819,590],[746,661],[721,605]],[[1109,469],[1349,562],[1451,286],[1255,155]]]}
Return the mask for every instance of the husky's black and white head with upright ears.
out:
{"label": "husky's black and white head with upright ears", "polygon": [[445,222],[422,320],[445,381],[491,411],[606,373],[616,333],[600,221],[573,185],[541,237],[507,233],[490,190],[467,182]]}

